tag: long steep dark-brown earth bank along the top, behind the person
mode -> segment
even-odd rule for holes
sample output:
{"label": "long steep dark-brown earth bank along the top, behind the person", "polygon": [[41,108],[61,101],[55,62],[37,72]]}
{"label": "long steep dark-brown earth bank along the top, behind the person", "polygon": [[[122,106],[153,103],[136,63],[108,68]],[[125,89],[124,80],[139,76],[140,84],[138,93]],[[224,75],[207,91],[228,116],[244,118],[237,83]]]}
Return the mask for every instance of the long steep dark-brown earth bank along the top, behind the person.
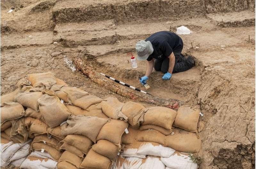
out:
{"label": "long steep dark-brown earth bank along the top, behind the person", "polygon": [[53,7],[53,18],[57,23],[115,19],[130,22],[137,19],[202,15],[204,2],[185,0],[131,0],[131,1],[59,1]]}

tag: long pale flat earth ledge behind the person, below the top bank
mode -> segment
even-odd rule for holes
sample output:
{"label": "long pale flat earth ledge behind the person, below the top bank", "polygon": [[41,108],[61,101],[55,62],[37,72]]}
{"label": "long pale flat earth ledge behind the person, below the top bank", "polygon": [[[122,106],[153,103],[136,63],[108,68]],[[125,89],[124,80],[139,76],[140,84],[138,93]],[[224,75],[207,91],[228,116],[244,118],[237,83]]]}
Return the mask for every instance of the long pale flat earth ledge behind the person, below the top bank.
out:
{"label": "long pale flat earth ledge behind the person, below the top bank", "polygon": [[[203,26],[205,23],[208,23],[207,26]],[[193,20],[169,18],[165,21],[141,21],[117,25],[113,19],[110,19],[97,22],[57,24],[54,29],[54,39],[58,40],[61,36],[61,38],[78,45],[113,44],[121,40],[146,39],[149,35],[159,31],[176,32],[176,28],[179,26],[188,27],[192,33],[201,33],[217,28],[207,18],[193,18]]]}

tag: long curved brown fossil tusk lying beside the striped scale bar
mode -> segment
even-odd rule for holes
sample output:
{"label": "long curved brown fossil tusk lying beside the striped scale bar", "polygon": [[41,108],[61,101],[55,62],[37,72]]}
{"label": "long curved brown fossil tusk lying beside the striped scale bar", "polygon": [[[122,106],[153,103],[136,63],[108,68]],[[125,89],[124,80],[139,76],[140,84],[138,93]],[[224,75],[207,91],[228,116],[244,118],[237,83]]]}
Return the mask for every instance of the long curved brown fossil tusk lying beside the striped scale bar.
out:
{"label": "long curved brown fossil tusk lying beside the striped scale bar", "polygon": [[101,76],[98,72],[92,69],[92,67],[89,67],[86,65],[85,62],[83,62],[80,58],[74,59],[74,63],[76,64],[76,67],[81,70],[84,75],[89,77],[93,82],[97,83],[98,85],[108,88],[112,92],[115,92],[116,94],[119,94],[121,96],[125,96],[129,99],[133,99],[140,102],[146,102],[149,104],[153,104],[156,106],[163,106],[168,107],[172,109],[178,109],[180,106],[180,101],[176,99],[163,99],[156,96],[151,96],[148,94],[143,94],[134,90],[131,90],[129,88],[126,88],[123,85],[119,85],[116,83],[113,83],[112,80],[109,80],[108,78]]}

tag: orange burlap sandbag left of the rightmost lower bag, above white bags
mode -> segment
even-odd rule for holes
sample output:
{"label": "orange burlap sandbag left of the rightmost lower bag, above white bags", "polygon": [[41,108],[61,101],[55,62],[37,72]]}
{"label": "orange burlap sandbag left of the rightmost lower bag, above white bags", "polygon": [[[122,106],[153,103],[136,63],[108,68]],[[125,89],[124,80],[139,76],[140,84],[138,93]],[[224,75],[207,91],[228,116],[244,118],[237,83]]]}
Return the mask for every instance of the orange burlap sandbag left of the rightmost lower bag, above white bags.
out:
{"label": "orange burlap sandbag left of the rightmost lower bag, above white bags", "polygon": [[136,140],[140,142],[155,142],[164,145],[165,136],[154,129],[140,130]]}

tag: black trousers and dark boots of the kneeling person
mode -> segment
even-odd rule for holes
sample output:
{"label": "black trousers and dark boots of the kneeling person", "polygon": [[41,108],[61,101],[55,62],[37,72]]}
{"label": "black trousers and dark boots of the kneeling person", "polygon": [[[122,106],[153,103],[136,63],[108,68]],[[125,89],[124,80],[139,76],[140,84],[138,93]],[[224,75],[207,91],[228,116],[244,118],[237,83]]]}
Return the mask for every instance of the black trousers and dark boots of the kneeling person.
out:
{"label": "black trousers and dark boots of the kneeling person", "polygon": [[[193,57],[188,56],[188,58],[185,58],[181,54],[181,51],[182,51],[182,48],[173,51],[173,54],[175,56],[175,64],[174,64],[172,73],[186,71],[195,65],[195,61]],[[166,73],[169,69],[169,58],[166,57],[164,60],[155,59],[154,68],[156,71],[162,71],[163,73]]]}

